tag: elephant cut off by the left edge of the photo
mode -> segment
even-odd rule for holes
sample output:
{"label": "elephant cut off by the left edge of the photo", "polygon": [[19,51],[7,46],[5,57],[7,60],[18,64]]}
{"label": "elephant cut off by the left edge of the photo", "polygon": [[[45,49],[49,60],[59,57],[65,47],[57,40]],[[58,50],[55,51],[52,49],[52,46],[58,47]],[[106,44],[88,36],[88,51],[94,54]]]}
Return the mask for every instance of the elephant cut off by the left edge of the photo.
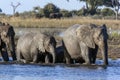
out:
{"label": "elephant cut off by the left edge of the photo", "polygon": [[0,22],[0,52],[4,61],[9,61],[8,52],[11,53],[13,60],[17,60],[14,36],[14,28],[9,24]]}

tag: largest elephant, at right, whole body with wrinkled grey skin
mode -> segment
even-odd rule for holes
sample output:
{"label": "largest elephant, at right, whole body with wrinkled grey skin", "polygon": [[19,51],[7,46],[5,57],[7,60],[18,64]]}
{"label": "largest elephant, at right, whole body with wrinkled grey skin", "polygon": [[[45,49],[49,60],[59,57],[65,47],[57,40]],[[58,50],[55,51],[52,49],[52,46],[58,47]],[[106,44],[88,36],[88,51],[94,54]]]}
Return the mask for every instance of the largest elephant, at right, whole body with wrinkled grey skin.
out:
{"label": "largest elephant, at right, whole body with wrinkled grey skin", "polygon": [[65,47],[66,63],[70,59],[85,60],[85,64],[96,61],[98,48],[101,50],[104,65],[108,64],[107,29],[105,25],[73,25],[64,32],[63,45]]}

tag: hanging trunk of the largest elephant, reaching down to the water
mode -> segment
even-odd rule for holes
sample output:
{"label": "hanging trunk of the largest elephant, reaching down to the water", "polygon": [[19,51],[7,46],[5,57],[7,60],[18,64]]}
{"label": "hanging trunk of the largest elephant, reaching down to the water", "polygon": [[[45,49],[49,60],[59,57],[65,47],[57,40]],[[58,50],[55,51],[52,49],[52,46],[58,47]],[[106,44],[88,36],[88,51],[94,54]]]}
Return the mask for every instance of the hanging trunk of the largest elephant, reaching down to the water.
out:
{"label": "hanging trunk of the largest elephant, reaching down to the water", "polygon": [[104,65],[108,65],[108,45],[107,45],[107,41],[104,41],[104,45],[101,48],[101,51],[102,51],[102,57],[103,57]]}

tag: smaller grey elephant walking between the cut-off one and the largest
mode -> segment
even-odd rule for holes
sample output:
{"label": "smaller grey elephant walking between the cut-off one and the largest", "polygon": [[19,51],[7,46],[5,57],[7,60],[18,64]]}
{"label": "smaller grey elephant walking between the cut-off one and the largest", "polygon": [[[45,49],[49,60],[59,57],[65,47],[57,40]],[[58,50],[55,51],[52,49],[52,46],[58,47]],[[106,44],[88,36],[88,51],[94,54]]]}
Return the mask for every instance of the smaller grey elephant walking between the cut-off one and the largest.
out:
{"label": "smaller grey elephant walking between the cut-off one and the largest", "polygon": [[21,36],[17,43],[17,61],[24,63],[38,63],[40,55],[45,54],[45,63],[55,63],[56,41],[52,36],[37,33],[27,33]]}

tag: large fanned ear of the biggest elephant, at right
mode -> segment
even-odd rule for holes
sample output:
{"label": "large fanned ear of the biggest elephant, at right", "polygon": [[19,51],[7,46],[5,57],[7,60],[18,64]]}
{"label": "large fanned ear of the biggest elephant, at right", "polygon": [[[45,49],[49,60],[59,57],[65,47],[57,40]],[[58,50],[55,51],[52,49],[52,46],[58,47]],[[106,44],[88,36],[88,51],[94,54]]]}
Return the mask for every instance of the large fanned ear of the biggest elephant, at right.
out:
{"label": "large fanned ear of the biggest elephant, at right", "polygon": [[80,41],[84,42],[88,47],[95,48],[93,40],[93,27],[91,25],[81,25],[76,30],[76,35]]}

